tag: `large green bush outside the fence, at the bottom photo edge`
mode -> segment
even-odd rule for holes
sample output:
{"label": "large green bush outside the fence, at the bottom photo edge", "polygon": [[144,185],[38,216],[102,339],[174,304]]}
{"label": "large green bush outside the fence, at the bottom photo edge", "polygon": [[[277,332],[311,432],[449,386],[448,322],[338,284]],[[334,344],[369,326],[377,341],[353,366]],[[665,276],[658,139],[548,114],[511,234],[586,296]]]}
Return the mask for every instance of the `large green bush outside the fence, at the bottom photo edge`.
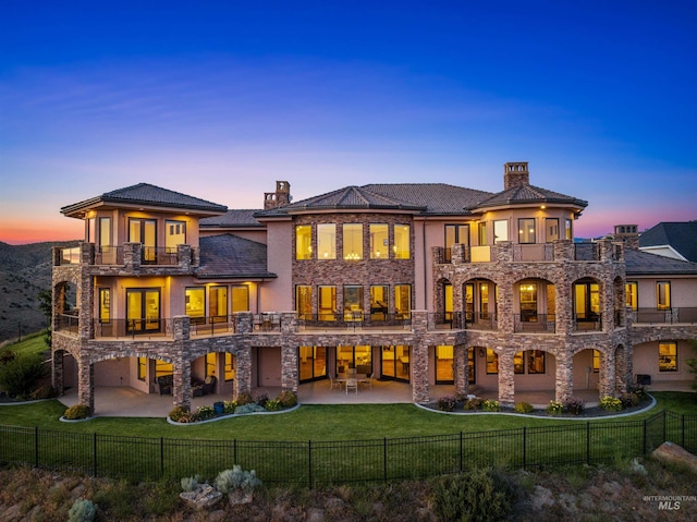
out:
{"label": "large green bush outside the fence, at the bottom photo edge", "polygon": [[515,500],[511,486],[487,469],[439,477],[433,485],[433,510],[438,520],[509,520]]}

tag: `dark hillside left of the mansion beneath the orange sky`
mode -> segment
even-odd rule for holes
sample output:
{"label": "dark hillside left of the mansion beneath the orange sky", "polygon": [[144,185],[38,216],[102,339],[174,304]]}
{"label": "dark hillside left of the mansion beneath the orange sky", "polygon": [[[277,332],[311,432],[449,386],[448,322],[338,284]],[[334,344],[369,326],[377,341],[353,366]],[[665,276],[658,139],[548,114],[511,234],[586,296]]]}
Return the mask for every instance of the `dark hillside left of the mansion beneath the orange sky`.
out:
{"label": "dark hillside left of the mansion beneath the orange sky", "polygon": [[0,242],[0,342],[46,327],[38,294],[51,288],[51,248],[77,241],[10,245]]}

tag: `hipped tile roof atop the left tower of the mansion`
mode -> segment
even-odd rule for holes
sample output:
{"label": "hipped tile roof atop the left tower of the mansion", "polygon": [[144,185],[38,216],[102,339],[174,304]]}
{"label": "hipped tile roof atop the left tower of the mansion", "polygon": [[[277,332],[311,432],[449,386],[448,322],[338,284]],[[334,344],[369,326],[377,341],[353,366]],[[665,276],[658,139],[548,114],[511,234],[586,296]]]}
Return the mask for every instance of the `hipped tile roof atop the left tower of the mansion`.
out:
{"label": "hipped tile roof atop the left tower of the mansion", "polygon": [[149,183],[138,183],[136,185],[106,192],[100,196],[85,199],[73,205],[61,208],[62,214],[70,214],[81,208],[88,208],[96,204],[132,204],[147,205],[168,208],[187,208],[206,213],[224,213],[228,207],[216,203],[207,202],[198,197],[188,196],[180,192],[170,191]]}

